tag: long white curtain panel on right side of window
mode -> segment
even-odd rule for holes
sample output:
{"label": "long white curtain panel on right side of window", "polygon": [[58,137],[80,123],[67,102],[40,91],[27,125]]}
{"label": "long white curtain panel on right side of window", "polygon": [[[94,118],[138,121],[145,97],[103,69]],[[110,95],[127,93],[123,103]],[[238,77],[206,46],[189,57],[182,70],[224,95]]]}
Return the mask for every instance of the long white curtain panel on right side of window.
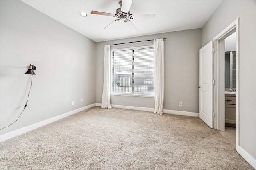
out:
{"label": "long white curtain panel on right side of window", "polygon": [[164,104],[164,39],[154,39],[155,111],[163,114]]}

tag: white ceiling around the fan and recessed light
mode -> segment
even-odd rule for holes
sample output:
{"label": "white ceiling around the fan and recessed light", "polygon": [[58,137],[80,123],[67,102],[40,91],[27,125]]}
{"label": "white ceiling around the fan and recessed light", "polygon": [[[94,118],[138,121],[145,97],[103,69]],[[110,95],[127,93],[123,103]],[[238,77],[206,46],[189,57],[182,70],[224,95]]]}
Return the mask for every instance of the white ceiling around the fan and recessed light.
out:
{"label": "white ceiling around the fan and recessed light", "polygon": [[[155,14],[154,20],[131,20],[138,31],[123,22],[105,30],[116,17],[90,14],[92,10],[116,14],[119,0],[22,0],[54,20],[95,42],[202,28],[222,0],[133,0],[130,14]],[[86,12],[87,17],[79,12]]]}

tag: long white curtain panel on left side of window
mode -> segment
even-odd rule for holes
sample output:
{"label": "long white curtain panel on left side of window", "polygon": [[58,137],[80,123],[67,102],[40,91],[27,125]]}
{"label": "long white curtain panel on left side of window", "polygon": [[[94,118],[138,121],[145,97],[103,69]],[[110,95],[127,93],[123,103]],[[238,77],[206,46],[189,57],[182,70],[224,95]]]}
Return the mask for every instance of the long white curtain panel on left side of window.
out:
{"label": "long white curtain panel on left side of window", "polygon": [[103,74],[103,93],[101,107],[111,109],[110,104],[110,45],[105,45],[104,48],[104,74]]}

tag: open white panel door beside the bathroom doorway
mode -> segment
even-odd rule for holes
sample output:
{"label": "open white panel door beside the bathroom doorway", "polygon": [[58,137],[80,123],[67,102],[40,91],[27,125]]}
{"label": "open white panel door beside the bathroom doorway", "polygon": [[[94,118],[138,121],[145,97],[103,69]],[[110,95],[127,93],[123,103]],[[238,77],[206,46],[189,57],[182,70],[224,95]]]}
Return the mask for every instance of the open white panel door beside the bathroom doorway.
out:
{"label": "open white panel door beside the bathroom doorway", "polygon": [[199,117],[213,128],[213,41],[199,50]]}

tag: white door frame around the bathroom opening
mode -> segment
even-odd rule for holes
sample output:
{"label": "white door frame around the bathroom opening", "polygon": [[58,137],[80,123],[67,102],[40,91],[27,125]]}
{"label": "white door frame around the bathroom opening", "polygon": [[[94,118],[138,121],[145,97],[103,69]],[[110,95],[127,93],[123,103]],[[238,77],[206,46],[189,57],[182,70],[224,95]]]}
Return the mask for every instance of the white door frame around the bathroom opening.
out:
{"label": "white door frame around the bathroom opening", "polygon": [[240,145],[240,21],[237,18],[228,27],[221,31],[214,41],[214,129],[225,130],[225,76],[224,76],[224,39],[236,32],[236,150]]}

